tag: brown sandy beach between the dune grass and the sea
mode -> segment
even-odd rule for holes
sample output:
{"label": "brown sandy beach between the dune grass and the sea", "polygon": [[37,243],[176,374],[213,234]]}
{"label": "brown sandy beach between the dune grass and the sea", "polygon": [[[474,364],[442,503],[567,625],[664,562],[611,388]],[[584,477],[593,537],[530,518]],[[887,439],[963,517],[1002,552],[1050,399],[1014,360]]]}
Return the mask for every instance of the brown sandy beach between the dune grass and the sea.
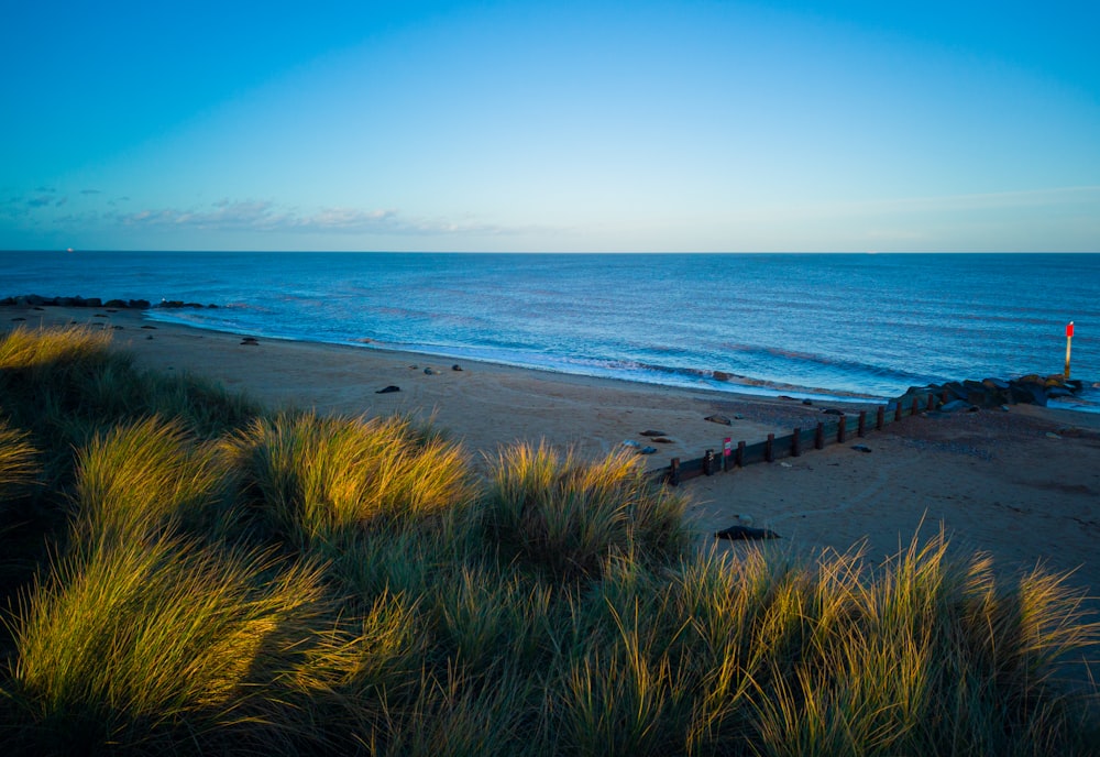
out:
{"label": "brown sandy beach between the dune grass and the sea", "polygon": [[[453,370],[446,359],[348,345],[244,343],[250,334],[156,322],[131,310],[4,307],[0,318],[2,328],[111,329],[142,367],[208,376],[270,407],[432,418],[475,460],[520,440],[573,446],[591,457],[634,440],[659,448],[646,457],[647,468],[657,469],[673,457],[719,450],[726,436],[751,443],[807,428],[827,406],[487,363]],[[378,393],[387,386],[400,391]],[[713,414],[740,418],[722,426],[705,419]],[[647,430],[669,441],[651,442],[641,436]],[[915,416],[849,442],[684,482],[700,544],[745,549],[711,535],[747,516],[783,537],[769,549],[847,551],[865,544],[868,559],[878,561],[917,530],[931,537],[943,525],[954,549],[988,552],[999,572],[1042,563],[1075,571],[1070,581],[1091,593],[1100,586],[1100,415],[1013,406]],[[870,452],[853,449],[857,442]]]}

